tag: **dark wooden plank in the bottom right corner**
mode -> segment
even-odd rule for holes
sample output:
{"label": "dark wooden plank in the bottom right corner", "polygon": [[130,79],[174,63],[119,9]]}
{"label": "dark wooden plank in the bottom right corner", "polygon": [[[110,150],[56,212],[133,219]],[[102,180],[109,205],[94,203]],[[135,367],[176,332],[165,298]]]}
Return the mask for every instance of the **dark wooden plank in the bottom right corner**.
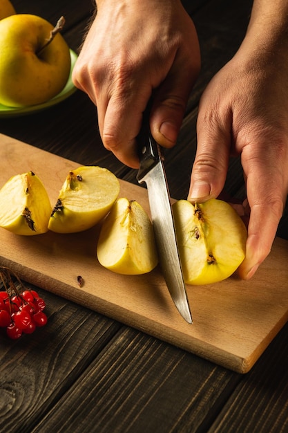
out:
{"label": "dark wooden plank in the bottom right corner", "polygon": [[288,324],[238,384],[209,432],[288,431]]}

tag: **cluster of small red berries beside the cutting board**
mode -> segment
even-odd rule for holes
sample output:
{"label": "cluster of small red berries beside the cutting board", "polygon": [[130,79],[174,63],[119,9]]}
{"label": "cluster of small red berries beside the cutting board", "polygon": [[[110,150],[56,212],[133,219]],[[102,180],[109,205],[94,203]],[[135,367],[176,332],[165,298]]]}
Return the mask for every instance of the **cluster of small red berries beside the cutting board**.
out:
{"label": "cluster of small red berries beside the cutting board", "polygon": [[0,291],[0,326],[6,328],[8,337],[17,340],[22,333],[30,334],[37,326],[44,326],[45,301],[36,291],[25,288],[18,277],[20,288],[17,288],[10,270],[0,268],[0,275],[5,288]]}

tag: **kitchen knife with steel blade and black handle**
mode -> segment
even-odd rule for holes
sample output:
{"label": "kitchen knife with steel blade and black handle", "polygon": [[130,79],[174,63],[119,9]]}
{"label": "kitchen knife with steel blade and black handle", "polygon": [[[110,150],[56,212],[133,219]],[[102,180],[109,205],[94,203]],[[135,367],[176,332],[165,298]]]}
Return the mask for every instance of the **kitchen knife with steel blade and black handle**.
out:
{"label": "kitchen knife with steel blade and black handle", "polygon": [[137,137],[140,169],[137,181],[146,183],[151,219],[162,273],[172,300],[186,322],[192,316],[184,284],[180,256],[177,248],[169,187],[164,171],[162,147],[154,140],[148,122],[143,122]]}

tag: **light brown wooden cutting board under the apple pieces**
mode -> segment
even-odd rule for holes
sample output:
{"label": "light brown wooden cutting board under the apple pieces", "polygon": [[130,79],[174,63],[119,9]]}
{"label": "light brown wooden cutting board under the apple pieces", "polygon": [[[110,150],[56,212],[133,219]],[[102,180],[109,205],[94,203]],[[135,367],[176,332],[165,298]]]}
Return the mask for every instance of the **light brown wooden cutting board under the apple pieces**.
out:
{"label": "light brown wooden cutting board under the apple pieces", "polygon": [[[0,187],[32,170],[51,204],[70,169],[79,164],[0,134]],[[146,190],[120,181],[120,196],[148,211]],[[246,373],[288,320],[288,241],[276,239],[250,282],[231,277],[187,286],[193,324],[177,312],[159,268],[141,276],[112,273],[97,262],[97,227],[77,234],[20,237],[0,228],[0,265],[26,282],[87,306],[177,347]],[[84,286],[77,284],[77,275]]]}

